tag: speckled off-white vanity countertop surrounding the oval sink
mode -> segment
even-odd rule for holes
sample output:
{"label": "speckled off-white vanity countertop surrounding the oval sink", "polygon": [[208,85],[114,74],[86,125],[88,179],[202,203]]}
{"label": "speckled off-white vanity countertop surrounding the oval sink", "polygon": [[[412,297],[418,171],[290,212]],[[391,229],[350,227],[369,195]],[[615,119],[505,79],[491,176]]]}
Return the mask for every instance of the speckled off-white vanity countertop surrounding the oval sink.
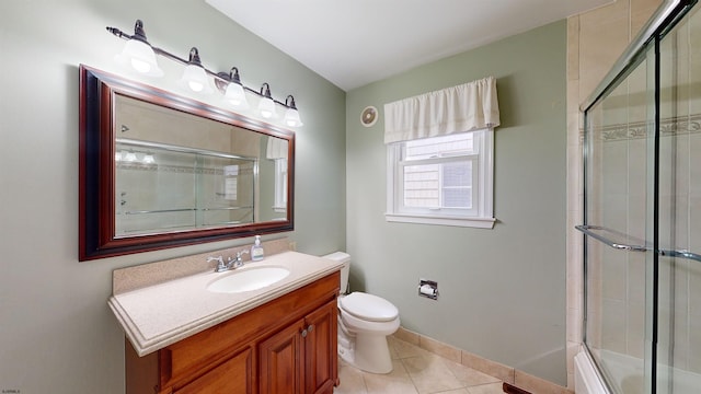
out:
{"label": "speckled off-white vanity countertop surrounding the oval sink", "polygon": [[[217,293],[207,286],[249,268],[277,266],[290,274],[262,289]],[[110,298],[107,302],[134,349],[146,356],[250,311],[341,269],[342,264],[297,252],[284,252],[226,273],[202,273]]]}

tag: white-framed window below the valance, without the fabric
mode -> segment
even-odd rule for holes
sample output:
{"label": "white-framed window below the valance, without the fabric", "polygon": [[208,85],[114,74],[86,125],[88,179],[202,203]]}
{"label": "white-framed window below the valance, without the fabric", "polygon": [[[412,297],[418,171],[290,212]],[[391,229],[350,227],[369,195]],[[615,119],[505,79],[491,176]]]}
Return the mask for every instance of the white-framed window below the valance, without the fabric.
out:
{"label": "white-framed window below the valance, without the fabric", "polygon": [[493,129],[388,144],[388,221],[492,228]]}

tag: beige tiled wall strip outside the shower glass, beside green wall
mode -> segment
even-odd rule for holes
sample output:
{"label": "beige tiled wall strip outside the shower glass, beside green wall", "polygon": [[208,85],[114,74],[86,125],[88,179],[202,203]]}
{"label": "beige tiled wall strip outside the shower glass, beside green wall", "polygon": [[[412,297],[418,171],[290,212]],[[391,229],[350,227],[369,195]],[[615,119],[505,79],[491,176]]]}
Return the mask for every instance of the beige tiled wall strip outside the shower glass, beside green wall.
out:
{"label": "beige tiled wall strip outside the shower glass, beside green wall", "polygon": [[662,0],[618,0],[567,20],[567,385],[582,344],[583,103],[604,79]]}

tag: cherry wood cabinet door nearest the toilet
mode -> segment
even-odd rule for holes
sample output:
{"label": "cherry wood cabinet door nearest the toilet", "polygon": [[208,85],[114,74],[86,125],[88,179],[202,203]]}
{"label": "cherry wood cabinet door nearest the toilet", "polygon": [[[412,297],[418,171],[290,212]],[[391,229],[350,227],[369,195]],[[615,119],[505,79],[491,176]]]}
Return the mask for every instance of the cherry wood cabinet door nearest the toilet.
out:
{"label": "cherry wood cabinet door nearest the toilet", "polygon": [[304,317],[304,394],[333,393],[338,375],[336,315],[334,300]]}

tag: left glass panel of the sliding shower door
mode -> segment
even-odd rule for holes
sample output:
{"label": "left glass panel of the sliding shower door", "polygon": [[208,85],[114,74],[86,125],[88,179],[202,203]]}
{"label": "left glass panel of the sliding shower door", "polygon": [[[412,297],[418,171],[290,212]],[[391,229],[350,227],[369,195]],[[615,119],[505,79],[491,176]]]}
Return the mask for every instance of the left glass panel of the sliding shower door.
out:
{"label": "left glass panel of the sliding shower door", "polygon": [[642,57],[586,118],[585,344],[612,393],[643,393],[646,381],[653,68]]}

